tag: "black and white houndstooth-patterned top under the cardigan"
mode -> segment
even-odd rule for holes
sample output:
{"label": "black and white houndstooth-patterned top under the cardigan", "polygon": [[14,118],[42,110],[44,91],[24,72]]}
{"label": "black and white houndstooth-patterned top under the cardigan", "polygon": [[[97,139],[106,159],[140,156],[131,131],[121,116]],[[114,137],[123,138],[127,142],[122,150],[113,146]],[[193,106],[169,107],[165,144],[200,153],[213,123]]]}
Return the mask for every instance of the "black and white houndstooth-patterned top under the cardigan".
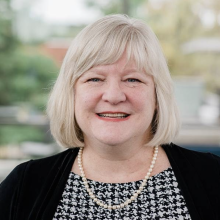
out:
{"label": "black and white houndstooth-patterned top under the cardigan", "polygon": [[[110,205],[120,204],[130,198],[141,182],[101,183],[88,180],[96,197]],[[174,172],[172,168],[168,168],[150,177],[135,201],[116,210],[108,210],[94,203],[86,192],[82,178],[71,172],[53,220],[73,219],[185,220],[191,217]]]}

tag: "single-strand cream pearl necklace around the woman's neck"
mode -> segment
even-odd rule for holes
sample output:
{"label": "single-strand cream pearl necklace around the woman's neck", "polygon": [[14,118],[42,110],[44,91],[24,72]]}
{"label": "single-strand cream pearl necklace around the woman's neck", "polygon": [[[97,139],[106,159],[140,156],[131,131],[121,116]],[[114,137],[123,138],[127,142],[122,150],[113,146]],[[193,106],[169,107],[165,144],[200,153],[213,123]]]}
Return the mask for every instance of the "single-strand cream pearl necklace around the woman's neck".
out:
{"label": "single-strand cream pearl necklace around the woman's neck", "polygon": [[152,158],[152,161],[151,161],[151,165],[150,165],[150,168],[147,172],[147,175],[144,177],[140,187],[138,190],[136,190],[136,192],[129,198],[127,199],[125,202],[119,204],[119,205],[107,205],[105,204],[104,202],[100,201],[99,199],[96,198],[96,196],[93,194],[93,192],[91,191],[91,189],[89,188],[89,184],[87,182],[87,179],[86,179],[86,176],[85,176],[85,172],[84,172],[84,169],[83,169],[83,165],[82,165],[82,153],[83,153],[83,147],[80,147],[79,149],[79,153],[78,153],[78,166],[79,166],[79,170],[81,172],[81,176],[82,176],[82,180],[83,180],[83,184],[86,188],[86,191],[88,192],[90,198],[96,203],[98,204],[99,206],[103,207],[103,208],[106,208],[106,209],[121,209],[121,208],[124,208],[125,206],[127,206],[128,204],[130,204],[132,201],[136,200],[136,198],[138,197],[138,195],[142,192],[142,190],[144,189],[146,183],[147,183],[147,180],[149,179],[151,173],[152,173],[152,170],[154,168],[154,165],[156,163],[156,159],[157,159],[157,154],[158,154],[158,146],[155,146],[154,147],[154,154],[153,154],[153,158]]}

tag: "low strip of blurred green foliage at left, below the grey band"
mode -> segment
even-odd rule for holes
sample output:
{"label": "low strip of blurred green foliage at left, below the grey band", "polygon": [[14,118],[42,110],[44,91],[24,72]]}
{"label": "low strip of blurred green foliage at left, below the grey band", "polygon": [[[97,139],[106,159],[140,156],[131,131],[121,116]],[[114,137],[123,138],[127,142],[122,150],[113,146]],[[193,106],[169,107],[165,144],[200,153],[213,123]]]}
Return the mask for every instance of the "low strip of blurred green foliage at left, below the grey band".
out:
{"label": "low strip of blurred green foliage at left, below the grey band", "polygon": [[39,128],[31,126],[1,126],[0,144],[19,144],[24,141],[42,141],[44,133]]}

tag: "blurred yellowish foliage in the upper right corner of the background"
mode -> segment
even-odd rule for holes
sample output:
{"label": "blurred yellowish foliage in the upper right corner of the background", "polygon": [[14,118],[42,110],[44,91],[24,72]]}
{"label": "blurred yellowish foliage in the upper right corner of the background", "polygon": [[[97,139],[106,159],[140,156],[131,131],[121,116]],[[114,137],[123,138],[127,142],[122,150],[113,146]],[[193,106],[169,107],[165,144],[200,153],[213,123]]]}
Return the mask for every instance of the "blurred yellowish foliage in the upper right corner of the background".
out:
{"label": "blurred yellowish foliage in the upper right corner of the background", "polygon": [[[216,11],[216,0],[210,0],[215,7],[209,8]],[[220,4],[219,4],[220,5]],[[220,62],[219,55],[210,52],[195,52],[184,54],[182,45],[188,41],[219,37],[220,26],[206,27],[202,21],[200,10],[206,10],[204,1],[178,0],[164,1],[159,8],[147,5],[147,23],[153,28],[167,57],[170,71],[173,75],[201,76],[205,79],[210,90],[220,88]],[[219,8],[220,12],[220,8]]]}

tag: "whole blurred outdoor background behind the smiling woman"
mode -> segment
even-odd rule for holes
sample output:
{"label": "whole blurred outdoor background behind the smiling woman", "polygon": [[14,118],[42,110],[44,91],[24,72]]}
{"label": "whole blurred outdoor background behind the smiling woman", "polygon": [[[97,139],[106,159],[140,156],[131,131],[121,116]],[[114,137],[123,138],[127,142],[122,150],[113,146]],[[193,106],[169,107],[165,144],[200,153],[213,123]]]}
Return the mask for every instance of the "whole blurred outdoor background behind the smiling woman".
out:
{"label": "whole blurred outdoor background behind the smiling woman", "polygon": [[0,0],[0,181],[62,150],[48,93],[71,40],[112,13],[143,19],[161,42],[182,117],[175,143],[220,155],[219,0]]}

